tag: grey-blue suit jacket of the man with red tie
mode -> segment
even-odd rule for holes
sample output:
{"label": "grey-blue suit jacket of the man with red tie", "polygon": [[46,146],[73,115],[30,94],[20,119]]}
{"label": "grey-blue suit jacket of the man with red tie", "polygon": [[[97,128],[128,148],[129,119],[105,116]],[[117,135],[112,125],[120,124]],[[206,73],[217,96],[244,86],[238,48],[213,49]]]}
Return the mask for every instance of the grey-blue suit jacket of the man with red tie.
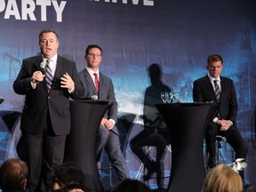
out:
{"label": "grey-blue suit jacket of the man with red tie", "polygon": [[[92,77],[90,76],[86,68],[84,68],[84,70],[79,73],[79,76],[84,86],[84,98],[90,97],[92,95],[97,95]],[[100,92],[98,96],[99,100],[113,101],[104,117],[107,119],[111,118],[115,122],[117,122],[117,102],[114,92],[114,85],[112,83],[112,80],[108,76],[103,75],[102,73],[100,73]],[[116,125],[111,131],[119,134]]]}

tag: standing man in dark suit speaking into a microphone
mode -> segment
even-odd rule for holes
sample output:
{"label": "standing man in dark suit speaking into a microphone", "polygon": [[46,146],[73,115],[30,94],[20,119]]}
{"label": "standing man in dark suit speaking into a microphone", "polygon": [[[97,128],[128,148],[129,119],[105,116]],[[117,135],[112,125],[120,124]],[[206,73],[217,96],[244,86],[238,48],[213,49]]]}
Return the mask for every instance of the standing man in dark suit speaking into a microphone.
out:
{"label": "standing man in dark suit speaking into a microphone", "polygon": [[14,92],[26,95],[20,129],[26,146],[29,191],[46,191],[52,168],[62,164],[70,131],[69,98],[79,99],[84,92],[76,63],[58,55],[57,33],[42,30],[39,46],[42,55],[23,60],[13,84]]}

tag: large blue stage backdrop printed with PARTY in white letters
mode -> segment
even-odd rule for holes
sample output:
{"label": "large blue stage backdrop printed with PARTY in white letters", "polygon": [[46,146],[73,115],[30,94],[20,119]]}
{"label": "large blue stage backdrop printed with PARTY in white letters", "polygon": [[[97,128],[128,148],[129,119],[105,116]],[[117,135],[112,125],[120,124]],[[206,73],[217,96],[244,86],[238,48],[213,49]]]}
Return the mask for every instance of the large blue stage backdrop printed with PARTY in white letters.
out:
{"label": "large blue stage backdrop printed with PARTY in white letters", "polygon": [[[193,81],[206,75],[207,56],[222,55],[222,75],[235,82],[237,122],[249,145],[245,179],[255,183],[255,10],[253,0],[0,0],[0,161],[17,156],[16,112],[22,110],[24,98],[12,91],[13,80],[21,60],[39,52],[39,31],[53,28],[60,36],[59,53],[75,60],[78,71],[85,67],[86,46],[102,46],[100,69],[113,79],[119,114],[136,116],[124,138],[124,155],[131,177],[138,179],[140,162],[126,146],[143,129],[138,116],[150,84],[148,66],[161,65],[164,83],[188,102]],[[230,150],[223,148],[223,153],[232,156]],[[168,175],[171,160],[165,155],[163,161]],[[151,182],[153,188],[156,180]]]}

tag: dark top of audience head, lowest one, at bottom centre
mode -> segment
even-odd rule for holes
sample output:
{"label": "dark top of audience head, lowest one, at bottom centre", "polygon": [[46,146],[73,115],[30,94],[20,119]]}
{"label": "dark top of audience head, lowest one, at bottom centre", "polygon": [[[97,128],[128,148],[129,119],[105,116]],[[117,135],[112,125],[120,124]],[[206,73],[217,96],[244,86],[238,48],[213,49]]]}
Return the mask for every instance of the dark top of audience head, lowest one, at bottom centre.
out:
{"label": "dark top of audience head, lowest one, at bottom centre", "polygon": [[119,181],[112,192],[150,192],[147,185],[140,180],[125,179]]}

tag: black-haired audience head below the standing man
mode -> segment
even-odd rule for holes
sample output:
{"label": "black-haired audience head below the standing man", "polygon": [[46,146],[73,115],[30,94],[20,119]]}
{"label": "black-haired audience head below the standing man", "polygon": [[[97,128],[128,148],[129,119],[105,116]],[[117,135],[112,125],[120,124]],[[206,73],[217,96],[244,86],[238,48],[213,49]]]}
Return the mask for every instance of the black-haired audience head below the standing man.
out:
{"label": "black-haired audience head below the standing man", "polygon": [[52,172],[52,190],[58,192],[92,191],[85,188],[82,170],[74,163],[64,163]]}

